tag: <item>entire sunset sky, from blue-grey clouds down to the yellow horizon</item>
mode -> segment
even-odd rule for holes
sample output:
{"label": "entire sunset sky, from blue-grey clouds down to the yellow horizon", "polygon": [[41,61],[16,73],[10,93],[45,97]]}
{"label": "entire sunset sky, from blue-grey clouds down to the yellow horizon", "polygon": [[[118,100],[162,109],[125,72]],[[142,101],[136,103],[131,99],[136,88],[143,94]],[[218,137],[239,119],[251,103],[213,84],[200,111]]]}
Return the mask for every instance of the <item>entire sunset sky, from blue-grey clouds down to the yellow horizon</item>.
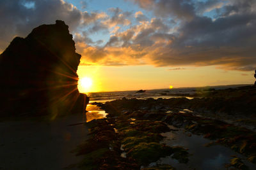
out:
{"label": "entire sunset sky, from blue-grey clouds down to the yellow horizon", "polygon": [[255,81],[255,0],[1,0],[0,52],[55,20],[82,55],[87,92]]}

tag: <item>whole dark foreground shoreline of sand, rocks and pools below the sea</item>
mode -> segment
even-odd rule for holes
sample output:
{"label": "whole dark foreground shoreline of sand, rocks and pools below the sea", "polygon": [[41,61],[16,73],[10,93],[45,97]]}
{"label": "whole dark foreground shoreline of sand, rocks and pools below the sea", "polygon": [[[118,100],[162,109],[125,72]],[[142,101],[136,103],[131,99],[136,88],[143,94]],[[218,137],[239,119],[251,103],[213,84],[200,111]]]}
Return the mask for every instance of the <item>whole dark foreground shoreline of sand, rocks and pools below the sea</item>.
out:
{"label": "whole dark foreground shoreline of sand, rocks and pools below the sea", "polygon": [[[205,91],[194,99],[124,97],[106,103],[91,101],[88,120],[81,114],[63,115],[54,120],[49,115],[3,120],[0,126],[5,136],[0,143],[1,153],[15,156],[10,159],[11,155],[2,154],[5,163],[0,167],[175,169],[199,166],[196,150],[186,145],[187,142],[171,144],[182,143],[182,138],[186,138],[185,141],[194,140],[189,143],[196,141],[193,147],[198,150],[209,150],[203,152],[206,154],[203,162],[211,160],[209,155],[217,154],[216,148],[220,154],[225,152],[225,158],[220,159],[225,164],[218,162],[220,169],[254,169],[256,106],[250,102],[256,97],[255,91],[246,87]],[[240,103],[237,110],[234,103]],[[204,146],[199,146],[198,141],[204,141]],[[40,160],[38,155],[45,159]],[[29,163],[31,160],[33,164]],[[40,165],[42,161],[45,164]]]}

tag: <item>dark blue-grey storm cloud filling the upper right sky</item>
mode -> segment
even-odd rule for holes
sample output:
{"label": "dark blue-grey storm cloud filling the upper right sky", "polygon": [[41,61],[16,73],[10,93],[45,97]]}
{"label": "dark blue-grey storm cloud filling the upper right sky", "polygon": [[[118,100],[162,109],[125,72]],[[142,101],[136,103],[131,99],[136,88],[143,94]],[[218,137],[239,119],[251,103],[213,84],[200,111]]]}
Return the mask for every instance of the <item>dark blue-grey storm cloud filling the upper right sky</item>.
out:
{"label": "dark blue-grey storm cloud filling the upper right sky", "polygon": [[[221,69],[240,71],[255,69],[256,1],[134,2],[145,10],[154,10],[160,18],[180,20],[175,31],[170,32],[165,28],[161,34],[154,34],[156,31],[152,32],[147,27],[141,29],[133,39],[132,44],[144,46],[148,50],[147,58],[155,66],[216,65]],[[214,9],[218,11],[214,20],[202,15],[204,11]],[[172,26],[168,28],[172,29]],[[161,46],[157,46],[156,39],[162,39],[158,43]]]}

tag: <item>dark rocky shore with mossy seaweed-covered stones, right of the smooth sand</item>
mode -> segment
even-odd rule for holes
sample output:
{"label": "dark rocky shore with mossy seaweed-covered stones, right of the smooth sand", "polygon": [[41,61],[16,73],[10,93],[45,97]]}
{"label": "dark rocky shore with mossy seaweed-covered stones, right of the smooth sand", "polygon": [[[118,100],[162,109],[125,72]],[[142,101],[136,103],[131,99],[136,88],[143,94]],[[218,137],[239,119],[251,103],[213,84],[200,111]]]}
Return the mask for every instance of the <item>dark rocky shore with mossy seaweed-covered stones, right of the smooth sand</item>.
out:
{"label": "dark rocky shore with mossy seaweed-covered stones, right of the smooth sand", "polygon": [[[227,95],[228,94],[228,95]],[[209,139],[204,147],[225,146],[230,155],[220,169],[256,166],[255,88],[218,90],[194,99],[123,99],[98,104],[107,118],[86,123],[89,139],[76,150],[82,169],[175,169],[161,158],[189,164],[189,148],[163,143],[166,132]],[[237,104],[237,105],[236,105]],[[232,119],[230,119],[232,117]],[[248,125],[251,129],[245,128]],[[253,131],[254,130],[254,131]],[[171,141],[173,139],[170,139]],[[196,154],[193,153],[196,157]],[[209,166],[211,167],[211,166]],[[189,167],[193,169],[193,167]]]}

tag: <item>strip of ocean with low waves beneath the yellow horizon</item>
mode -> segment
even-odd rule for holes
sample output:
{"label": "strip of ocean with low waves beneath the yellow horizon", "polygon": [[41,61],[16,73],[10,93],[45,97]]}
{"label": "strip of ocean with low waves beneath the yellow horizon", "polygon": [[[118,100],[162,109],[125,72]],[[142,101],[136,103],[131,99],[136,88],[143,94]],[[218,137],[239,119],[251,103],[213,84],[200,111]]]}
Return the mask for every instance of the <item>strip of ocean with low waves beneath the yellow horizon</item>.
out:
{"label": "strip of ocean with low waves beneath the yellow horizon", "polygon": [[[220,90],[228,88],[237,88],[243,87],[246,85],[221,85],[221,86],[209,86],[209,87],[187,87],[187,88],[173,88],[173,89],[155,89],[155,90],[146,90],[143,93],[137,93],[138,90],[129,90],[129,91],[118,91],[118,92],[93,92],[89,93],[90,103],[99,102],[105,103],[107,101],[113,101],[116,99],[122,99],[126,97],[127,99],[137,98],[137,99],[170,99],[173,97],[186,97],[188,99],[193,99],[189,97],[189,94],[195,94],[200,90]],[[188,94],[188,96],[186,96]]]}

